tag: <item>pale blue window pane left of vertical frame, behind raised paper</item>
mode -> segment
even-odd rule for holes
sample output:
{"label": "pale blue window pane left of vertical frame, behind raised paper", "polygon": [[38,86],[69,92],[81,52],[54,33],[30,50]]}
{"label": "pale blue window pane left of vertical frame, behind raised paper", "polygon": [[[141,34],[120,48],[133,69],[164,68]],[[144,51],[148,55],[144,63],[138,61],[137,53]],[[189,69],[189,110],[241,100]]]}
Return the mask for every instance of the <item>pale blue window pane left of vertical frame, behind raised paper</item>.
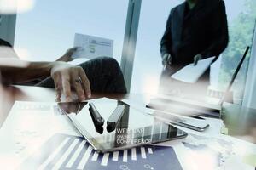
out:
{"label": "pale blue window pane left of vertical frame, behind raised paper", "polygon": [[55,60],[81,33],[112,39],[120,61],[127,8],[128,0],[36,1],[31,11],[17,14],[15,48],[26,59]]}

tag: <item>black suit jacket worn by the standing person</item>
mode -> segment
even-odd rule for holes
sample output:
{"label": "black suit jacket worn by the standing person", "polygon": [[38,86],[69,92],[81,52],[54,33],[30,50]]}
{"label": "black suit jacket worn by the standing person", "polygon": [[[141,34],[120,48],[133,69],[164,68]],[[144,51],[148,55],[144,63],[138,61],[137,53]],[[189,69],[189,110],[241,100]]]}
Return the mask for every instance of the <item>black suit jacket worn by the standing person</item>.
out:
{"label": "black suit jacket worn by the standing person", "polygon": [[229,41],[223,0],[199,0],[185,15],[187,3],[172,8],[166,31],[160,42],[160,53],[172,55],[172,64],[186,65],[196,54],[203,58],[217,56]]}

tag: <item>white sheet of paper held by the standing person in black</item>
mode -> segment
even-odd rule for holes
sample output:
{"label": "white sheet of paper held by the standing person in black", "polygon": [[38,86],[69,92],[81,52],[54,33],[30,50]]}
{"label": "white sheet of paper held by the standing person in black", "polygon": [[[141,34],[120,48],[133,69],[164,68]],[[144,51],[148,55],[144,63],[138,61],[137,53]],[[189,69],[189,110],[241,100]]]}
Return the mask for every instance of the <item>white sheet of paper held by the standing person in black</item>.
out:
{"label": "white sheet of paper held by the standing person in black", "polygon": [[194,83],[201,77],[201,75],[203,75],[205,71],[207,71],[214,58],[215,57],[201,59],[198,61],[197,65],[194,65],[193,63],[186,65],[171,77],[182,82]]}

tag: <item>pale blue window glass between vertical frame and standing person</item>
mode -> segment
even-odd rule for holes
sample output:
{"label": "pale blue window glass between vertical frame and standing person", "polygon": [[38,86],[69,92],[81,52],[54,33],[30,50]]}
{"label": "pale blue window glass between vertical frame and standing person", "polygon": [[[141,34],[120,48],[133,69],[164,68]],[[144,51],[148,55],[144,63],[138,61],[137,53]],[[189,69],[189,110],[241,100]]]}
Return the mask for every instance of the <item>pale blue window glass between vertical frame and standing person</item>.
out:
{"label": "pale blue window glass between vertical frame and standing person", "polygon": [[143,1],[137,35],[137,48],[131,80],[131,93],[155,94],[160,72],[160,38],[166,29],[171,8],[181,0]]}

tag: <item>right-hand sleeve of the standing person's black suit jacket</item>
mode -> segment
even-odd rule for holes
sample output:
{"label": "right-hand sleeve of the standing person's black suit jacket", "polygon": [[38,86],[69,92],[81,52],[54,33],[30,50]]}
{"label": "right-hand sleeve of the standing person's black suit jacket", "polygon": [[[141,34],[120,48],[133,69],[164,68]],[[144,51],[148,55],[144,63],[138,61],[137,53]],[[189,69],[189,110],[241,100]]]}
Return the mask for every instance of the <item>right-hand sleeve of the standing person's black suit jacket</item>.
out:
{"label": "right-hand sleeve of the standing person's black suit jacket", "polygon": [[217,56],[221,54],[227,47],[229,42],[229,31],[227,23],[227,15],[225,10],[224,1],[220,1],[218,10],[214,11],[212,23],[212,35],[215,37],[212,39],[211,45],[201,53],[203,58]]}

